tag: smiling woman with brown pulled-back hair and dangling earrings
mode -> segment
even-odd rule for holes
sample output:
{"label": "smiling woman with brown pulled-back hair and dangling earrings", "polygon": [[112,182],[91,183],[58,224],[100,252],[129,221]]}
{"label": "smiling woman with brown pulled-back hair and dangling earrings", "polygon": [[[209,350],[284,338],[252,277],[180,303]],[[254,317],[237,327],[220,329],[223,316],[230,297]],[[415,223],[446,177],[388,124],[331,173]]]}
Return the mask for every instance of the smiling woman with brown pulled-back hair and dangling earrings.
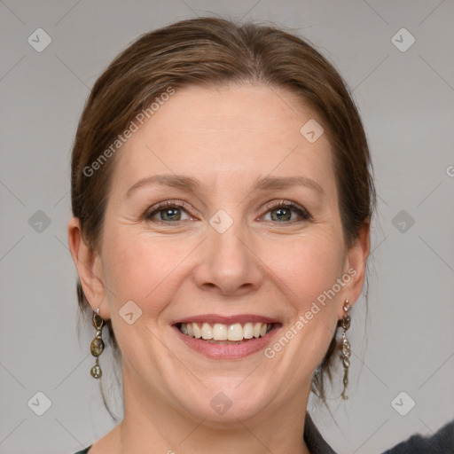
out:
{"label": "smiling woman with brown pulled-back hair and dangling earrings", "polygon": [[81,452],[333,452],[306,408],[339,356],[346,397],[370,168],[340,75],[294,35],[201,18],[123,51],[73,150],[91,375],[106,325],[124,396]]}

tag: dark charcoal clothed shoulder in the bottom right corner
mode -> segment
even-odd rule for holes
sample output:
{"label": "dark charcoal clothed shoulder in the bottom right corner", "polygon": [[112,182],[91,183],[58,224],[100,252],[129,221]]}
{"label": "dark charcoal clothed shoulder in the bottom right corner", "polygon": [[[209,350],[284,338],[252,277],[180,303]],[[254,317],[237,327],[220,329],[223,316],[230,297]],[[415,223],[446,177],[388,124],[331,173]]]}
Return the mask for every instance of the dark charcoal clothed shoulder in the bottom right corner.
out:
{"label": "dark charcoal clothed shoulder in the bottom right corner", "polygon": [[454,420],[432,436],[412,435],[383,454],[452,454],[454,452]]}

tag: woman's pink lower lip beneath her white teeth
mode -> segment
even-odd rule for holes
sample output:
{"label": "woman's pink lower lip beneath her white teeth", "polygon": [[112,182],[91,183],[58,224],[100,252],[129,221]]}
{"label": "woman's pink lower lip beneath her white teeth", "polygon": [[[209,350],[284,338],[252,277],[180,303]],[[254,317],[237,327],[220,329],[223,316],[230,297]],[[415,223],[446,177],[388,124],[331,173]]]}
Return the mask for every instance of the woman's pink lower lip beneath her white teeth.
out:
{"label": "woman's pink lower lip beneath her white teeth", "polygon": [[211,359],[240,359],[252,355],[265,348],[279,331],[279,326],[274,325],[270,333],[244,341],[241,344],[215,344],[188,336],[182,333],[176,325],[172,328],[176,330],[176,334],[189,348]]}

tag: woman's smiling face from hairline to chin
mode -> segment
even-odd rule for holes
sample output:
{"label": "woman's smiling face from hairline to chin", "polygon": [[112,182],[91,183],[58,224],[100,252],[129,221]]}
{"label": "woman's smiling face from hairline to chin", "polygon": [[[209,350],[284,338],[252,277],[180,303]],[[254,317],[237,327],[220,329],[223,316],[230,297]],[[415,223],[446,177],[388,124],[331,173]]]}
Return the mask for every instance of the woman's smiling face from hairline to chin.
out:
{"label": "woman's smiling face from hairline to chin", "polygon": [[364,248],[344,245],[328,139],[301,135],[311,119],[284,90],[185,88],[118,152],[82,286],[112,319],[125,401],[225,422],[307,399],[364,269]]}

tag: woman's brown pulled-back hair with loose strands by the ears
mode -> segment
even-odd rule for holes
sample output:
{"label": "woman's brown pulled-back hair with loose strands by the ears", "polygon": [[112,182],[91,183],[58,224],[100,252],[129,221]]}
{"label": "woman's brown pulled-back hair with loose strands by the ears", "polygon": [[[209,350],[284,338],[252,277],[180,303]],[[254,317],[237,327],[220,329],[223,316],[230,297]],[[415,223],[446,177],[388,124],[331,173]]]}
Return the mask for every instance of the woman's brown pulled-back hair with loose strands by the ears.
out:
{"label": "woman's brown pulled-back hair with loose strands by the ears", "polygon": [[[345,246],[353,245],[372,217],[375,191],[363,124],[346,83],[332,64],[296,35],[276,27],[204,17],[139,36],[91,90],[74,140],[71,201],[82,237],[92,250],[100,244],[116,154],[109,153],[109,159],[100,162],[95,176],[86,169],[95,168],[93,163],[103,153],[107,156],[106,150],[109,146],[112,150],[131,121],[169,88],[228,83],[288,90],[319,115],[333,153]],[[81,312],[90,309],[80,279],[77,296]],[[117,352],[111,321],[106,325]],[[324,403],[324,376],[332,380],[337,343],[334,333],[313,375],[311,389]]]}

